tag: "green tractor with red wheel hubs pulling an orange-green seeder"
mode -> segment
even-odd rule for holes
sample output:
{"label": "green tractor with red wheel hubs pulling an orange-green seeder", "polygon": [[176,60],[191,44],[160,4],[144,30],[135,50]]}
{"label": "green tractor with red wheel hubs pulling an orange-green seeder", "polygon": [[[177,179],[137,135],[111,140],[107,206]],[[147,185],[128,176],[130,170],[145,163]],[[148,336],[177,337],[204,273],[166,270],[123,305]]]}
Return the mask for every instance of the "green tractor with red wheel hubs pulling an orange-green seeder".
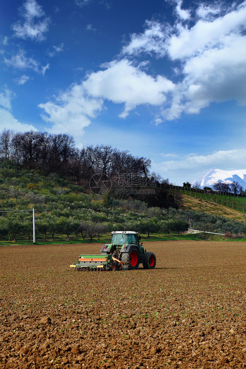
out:
{"label": "green tractor with red wheel hubs pulling an orange-green seeder", "polygon": [[146,252],[141,236],[132,231],[113,231],[110,244],[103,245],[101,255],[80,255],[70,267],[76,270],[127,270],[138,269],[143,264],[144,269],[154,269],[156,256]]}

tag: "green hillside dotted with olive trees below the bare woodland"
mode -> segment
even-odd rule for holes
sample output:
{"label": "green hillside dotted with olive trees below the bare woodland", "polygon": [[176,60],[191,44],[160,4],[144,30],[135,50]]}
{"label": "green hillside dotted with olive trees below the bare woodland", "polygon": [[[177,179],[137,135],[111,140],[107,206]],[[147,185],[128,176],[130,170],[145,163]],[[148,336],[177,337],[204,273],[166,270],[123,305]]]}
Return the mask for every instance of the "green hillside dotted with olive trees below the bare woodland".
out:
{"label": "green hillside dotted with olive trees below the bare woodland", "polygon": [[[214,194],[206,198],[205,193],[184,190],[182,200],[181,189],[171,187],[155,187],[155,193],[151,187],[151,193],[145,196],[152,196],[153,201],[147,203],[132,195],[116,196],[115,192],[101,196],[56,173],[44,175],[40,170],[1,162],[0,243],[32,242],[32,208],[38,242],[64,243],[67,239],[78,243],[85,238],[92,242],[112,230],[122,229],[139,231],[148,239],[150,234],[179,237],[191,223],[202,232],[231,232],[240,237],[246,234],[242,197],[222,199]],[[177,207],[170,205],[174,198],[180,199]],[[241,211],[235,211],[235,207]]]}

